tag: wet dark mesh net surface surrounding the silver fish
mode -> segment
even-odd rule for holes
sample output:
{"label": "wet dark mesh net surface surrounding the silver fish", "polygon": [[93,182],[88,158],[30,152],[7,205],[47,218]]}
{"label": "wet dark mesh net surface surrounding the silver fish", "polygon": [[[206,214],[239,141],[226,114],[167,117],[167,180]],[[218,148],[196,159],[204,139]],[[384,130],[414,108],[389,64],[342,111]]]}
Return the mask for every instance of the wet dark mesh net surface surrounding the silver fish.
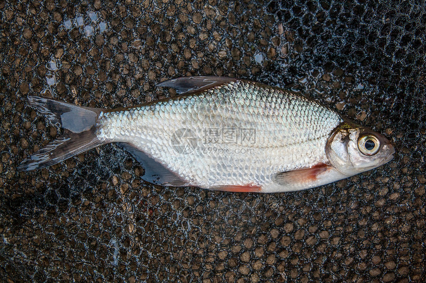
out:
{"label": "wet dark mesh net surface surrounding the silver fish", "polygon": [[[6,282],[422,282],[422,1],[0,1],[0,277]],[[390,137],[373,171],[273,195],[144,183],[114,145],[17,172],[60,131],[26,106],[168,95],[224,75],[303,92]],[[50,95],[49,93],[45,95]]]}

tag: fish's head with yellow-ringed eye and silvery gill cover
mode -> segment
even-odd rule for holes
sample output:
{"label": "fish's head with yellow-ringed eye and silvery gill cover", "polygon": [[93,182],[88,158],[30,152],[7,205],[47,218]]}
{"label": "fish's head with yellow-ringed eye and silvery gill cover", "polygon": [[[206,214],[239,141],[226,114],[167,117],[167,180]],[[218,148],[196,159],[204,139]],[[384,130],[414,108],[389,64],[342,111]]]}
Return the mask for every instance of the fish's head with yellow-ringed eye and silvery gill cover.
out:
{"label": "fish's head with yellow-ringed eye and silvery gill cover", "polygon": [[395,148],[383,135],[370,128],[344,121],[332,132],[325,154],[333,167],[353,176],[393,159]]}

